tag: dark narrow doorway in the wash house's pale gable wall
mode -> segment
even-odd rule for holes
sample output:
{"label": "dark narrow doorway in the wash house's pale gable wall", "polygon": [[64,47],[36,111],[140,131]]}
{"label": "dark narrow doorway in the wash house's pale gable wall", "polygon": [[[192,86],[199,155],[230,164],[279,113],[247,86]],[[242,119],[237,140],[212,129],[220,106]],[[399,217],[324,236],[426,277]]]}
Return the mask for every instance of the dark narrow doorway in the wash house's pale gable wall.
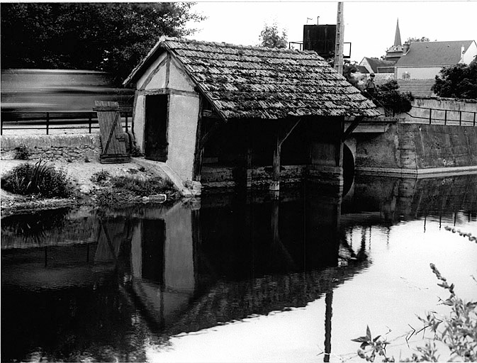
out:
{"label": "dark narrow doorway in the wash house's pale gable wall", "polygon": [[145,158],[167,160],[167,94],[146,96]]}

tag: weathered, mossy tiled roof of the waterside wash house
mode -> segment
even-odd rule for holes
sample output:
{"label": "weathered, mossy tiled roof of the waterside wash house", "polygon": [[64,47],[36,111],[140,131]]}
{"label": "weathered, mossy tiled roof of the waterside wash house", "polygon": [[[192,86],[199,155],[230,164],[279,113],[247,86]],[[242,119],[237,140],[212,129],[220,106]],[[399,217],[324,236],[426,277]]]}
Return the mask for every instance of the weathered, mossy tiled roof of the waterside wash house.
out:
{"label": "weathered, mossy tiled roof of the waterside wash house", "polygon": [[161,38],[124,84],[168,50],[220,116],[377,116],[361,95],[315,52]]}

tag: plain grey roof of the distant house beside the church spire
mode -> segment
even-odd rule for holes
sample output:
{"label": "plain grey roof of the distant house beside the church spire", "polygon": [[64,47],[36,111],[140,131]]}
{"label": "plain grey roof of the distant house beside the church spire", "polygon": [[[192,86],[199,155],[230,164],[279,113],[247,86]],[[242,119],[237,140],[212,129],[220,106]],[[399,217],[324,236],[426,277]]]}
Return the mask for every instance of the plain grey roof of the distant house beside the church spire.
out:
{"label": "plain grey roof of the distant house beside the church spire", "polygon": [[456,65],[461,60],[461,48],[467,50],[473,40],[451,42],[413,42],[400,57],[396,67]]}

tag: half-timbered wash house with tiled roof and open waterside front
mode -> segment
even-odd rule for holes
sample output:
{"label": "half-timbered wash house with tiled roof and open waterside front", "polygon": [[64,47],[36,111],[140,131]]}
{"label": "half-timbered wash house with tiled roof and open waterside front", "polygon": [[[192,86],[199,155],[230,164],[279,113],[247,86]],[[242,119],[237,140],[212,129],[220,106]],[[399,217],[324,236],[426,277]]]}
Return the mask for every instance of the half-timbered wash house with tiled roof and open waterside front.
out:
{"label": "half-timbered wash house with tiled roof and open waterside front", "polygon": [[161,38],[124,84],[145,158],[206,186],[340,186],[344,139],[378,115],[309,51]]}

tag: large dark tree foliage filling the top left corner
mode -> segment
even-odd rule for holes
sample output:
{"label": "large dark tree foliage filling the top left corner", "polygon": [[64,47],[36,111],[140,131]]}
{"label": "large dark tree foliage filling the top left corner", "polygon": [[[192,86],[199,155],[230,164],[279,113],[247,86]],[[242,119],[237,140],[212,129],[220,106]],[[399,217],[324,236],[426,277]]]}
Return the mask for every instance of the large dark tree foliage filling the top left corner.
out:
{"label": "large dark tree foliage filling the top left corner", "polygon": [[1,67],[96,69],[127,77],[161,35],[193,33],[193,3],[1,4]]}

